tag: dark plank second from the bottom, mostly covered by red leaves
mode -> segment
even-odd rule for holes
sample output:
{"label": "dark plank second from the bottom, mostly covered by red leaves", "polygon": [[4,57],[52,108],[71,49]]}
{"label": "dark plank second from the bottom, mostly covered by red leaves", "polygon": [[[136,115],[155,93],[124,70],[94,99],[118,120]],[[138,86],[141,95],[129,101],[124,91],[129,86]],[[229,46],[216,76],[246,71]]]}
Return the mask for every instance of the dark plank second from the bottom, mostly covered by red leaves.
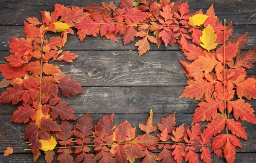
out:
{"label": "dark plank second from the bottom, mostly covered by red leaves", "polygon": [[[154,112],[155,110],[153,110]],[[171,111],[170,113],[171,114]],[[76,117],[81,117],[84,114],[76,114]],[[93,117],[93,124],[98,123],[99,119],[102,118],[105,114],[92,114]],[[162,117],[165,117],[168,114],[154,114],[153,120],[154,120],[154,126],[157,125],[158,122],[160,122]],[[24,151],[24,149],[28,149],[29,145],[25,143],[23,134],[24,130],[27,124],[24,123],[14,123],[10,122],[10,118],[12,115],[0,115],[0,132],[6,133],[6,135],[0,136],[0,151],[3,152],[6,147],[10,146],[14,148],[15,153],[30,153],[29,151]],[[192,114],[182,114],[177,113],[176,114],[176,126],[179,126],[184,123],[185,126],[190,126],[191,120],[192,120]],[[129,123],[131,123],[132,127],[136,127],[136,133],[137,135],[144,134],[143,131],[140,131],[138,127],[138,123],[146,123],[146,120],[148,118],[148,114],[115,114],[113,124],[120,124],[124,122],[125,120],[128,120]],[[232,116],[230,115],[230,118]],[[73,123],[75,123],[73,121]],[[205,127],[207,123],[202,123],[202,128]],[[248,140],[242,140],[240,139],[242,149],[236,148],[237,152],[256,152],[256,140],[254,139],[253,135],[255,134],[254,131],[256,129],[256,126],[247,123],[244,121],[241,121],[242,126],[247,132]],[[156,136],[156,134],[159,134],[159,131],[152,133]],[[159,152],[155,150],[155,152]]]}

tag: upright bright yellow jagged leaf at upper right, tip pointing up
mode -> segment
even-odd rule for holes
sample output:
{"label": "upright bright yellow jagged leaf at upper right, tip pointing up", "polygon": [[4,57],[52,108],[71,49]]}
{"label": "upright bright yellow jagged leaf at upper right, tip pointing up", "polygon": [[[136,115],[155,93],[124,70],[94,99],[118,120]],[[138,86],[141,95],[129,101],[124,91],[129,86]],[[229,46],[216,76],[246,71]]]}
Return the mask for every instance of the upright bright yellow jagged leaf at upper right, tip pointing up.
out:
{"label": "upright bright yellow jagged leaf at upper right, tip pointing up", "polygon": [[203,43],[200,44],[200,46],[202,46],[204,49],[207,49],[208,51],[216,48],[218,45],[218,43],[215,43],[217,40],[217,34],[214,33],[214,30],[210,24],[208,24],[208,26],[202,32],[200,40]]}

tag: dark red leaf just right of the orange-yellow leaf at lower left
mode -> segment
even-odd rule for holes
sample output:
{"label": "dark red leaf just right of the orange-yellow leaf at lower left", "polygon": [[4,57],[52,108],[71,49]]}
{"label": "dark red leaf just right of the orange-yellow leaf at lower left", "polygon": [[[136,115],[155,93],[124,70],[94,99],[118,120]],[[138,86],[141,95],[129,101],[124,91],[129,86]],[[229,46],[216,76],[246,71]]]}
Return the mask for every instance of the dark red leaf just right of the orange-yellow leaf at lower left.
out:
{"label": "dark red leaf just right of the orange-yellow leaf at lower left", "polygon": [[52,118],[45,119],[45,117],[43,117],[41,119],[40,124],[41,124],[41,128],[43,131],[47,131],[47,132],[60,131],[60,127],[58,126],[57,122],[55,120],[53,120]]}

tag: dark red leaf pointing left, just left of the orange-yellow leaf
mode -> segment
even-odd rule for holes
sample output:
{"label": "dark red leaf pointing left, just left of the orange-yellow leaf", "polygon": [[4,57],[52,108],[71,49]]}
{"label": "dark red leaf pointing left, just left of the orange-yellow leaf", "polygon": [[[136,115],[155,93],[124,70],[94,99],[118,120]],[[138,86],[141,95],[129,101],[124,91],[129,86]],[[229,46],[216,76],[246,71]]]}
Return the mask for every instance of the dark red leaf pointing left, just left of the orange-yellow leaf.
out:
{"label": "dark red leaf pointing left, just left of the orange-yellow leaf", "polygon": [[36,116],[35,110],[36,109],[31,108],[29,104],[24,104],[24,106],[20,106],[18,110],[16,110],[13,113],[11,120],[13,122],[18,122],[18,123],[21,123],[21,122],[27,123],[30,120],[30,118],[32,120],[35,120],[35,116]]}

